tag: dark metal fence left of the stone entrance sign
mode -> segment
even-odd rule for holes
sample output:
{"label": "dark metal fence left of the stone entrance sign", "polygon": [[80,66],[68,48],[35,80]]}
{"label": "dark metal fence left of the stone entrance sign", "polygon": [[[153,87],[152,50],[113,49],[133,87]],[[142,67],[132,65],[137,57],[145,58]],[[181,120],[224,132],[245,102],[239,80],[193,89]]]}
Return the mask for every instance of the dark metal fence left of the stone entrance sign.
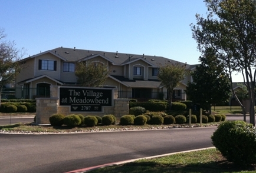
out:
{"label": "dark metal fence left of the stone entrance sign", "polygon": [[50,88],[2,88],[2,99],[35,99],[50,97]]}

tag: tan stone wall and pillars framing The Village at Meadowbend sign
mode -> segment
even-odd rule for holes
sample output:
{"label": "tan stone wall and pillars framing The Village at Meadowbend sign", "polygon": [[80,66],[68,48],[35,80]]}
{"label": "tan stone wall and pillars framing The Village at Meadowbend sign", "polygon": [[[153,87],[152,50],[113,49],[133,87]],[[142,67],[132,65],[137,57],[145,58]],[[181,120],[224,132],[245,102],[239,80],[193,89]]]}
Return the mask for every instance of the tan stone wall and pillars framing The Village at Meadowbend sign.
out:
{"label": "tan stone wall and pillars framing The Village at Meadowbend sign", "polygon": [[114,89],[114,106],[103,107],[103,112],[70,112],[70,107],[59,107],[58,98],[58,86],[51,85],[50,98],[36,98],[37,112],[36,112],[36,124],[50,124],[49,117],[52,114],[81,114],[81,115],[103,115],[112,114],[117,119],[120,119],[123,115],[129,114],[129,100],[130,99],[118,99],[118,91]]}

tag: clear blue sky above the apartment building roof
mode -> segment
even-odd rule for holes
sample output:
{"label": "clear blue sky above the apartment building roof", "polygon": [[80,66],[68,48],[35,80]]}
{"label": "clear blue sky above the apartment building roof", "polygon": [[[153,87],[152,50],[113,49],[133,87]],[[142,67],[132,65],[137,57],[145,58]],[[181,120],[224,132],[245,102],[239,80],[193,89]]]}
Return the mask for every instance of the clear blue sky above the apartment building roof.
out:
{"label": "clear blue sky above the apartment building roof", "polygon": [[[203,0],[0,0],[0,28],[27,56],[60,46],[199,64],[189,24]],[[242,81],[233,76],[234,82]]]}

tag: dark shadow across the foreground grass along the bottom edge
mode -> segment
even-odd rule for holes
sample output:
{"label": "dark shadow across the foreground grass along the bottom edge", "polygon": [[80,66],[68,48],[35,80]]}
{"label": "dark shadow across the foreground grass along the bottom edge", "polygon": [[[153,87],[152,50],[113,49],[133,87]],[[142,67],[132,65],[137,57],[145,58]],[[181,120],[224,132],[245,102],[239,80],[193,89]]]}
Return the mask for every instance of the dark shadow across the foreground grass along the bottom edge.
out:
{"label": "dark shadow across the foreground grass along the bottom edge", "polygon": [[241,171],[254,171],[255,167],[239,168],[236,165],[228,161],[219,162],[207,162],[199,164],[188,164],[188,165],[170,165],[170,164],[159,164],[157,162],[132,162],[124,165],[100,168],[91,171],[93,172],[207,172],[207,173],[219,173],[219,172],[241,172]]}

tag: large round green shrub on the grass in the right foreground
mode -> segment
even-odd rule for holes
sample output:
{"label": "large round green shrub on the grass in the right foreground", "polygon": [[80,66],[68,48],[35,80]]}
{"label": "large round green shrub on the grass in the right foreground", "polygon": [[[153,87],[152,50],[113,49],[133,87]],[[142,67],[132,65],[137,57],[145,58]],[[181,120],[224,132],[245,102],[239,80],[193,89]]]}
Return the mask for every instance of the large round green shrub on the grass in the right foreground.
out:
{"label": "large round green shrub on the grass in the right foreground", "polygon": [[236,165],[256,163],[256,129],[244,121],[222,122],[211,137],[212,144]]}

